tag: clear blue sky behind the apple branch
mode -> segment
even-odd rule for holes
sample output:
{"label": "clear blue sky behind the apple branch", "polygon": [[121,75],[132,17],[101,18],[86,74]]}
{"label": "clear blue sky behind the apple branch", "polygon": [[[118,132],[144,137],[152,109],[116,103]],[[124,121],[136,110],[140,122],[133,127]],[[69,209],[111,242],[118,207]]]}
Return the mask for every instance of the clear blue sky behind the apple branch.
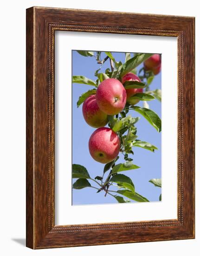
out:
{"label": "clear blue sky behind the apple branch", "polygon": [[[112,53],[116,61],[124,62],[124,53]],[[102,53],[102,59],[106,55]],[[133,56],[133,54],[131,54]],[[110,67],[110,61],[106,61],[100,72],[104,72],[106,68]],[[138,70],[141,66],[138,67]],[[72,75],[84,75],[87,78],[96,80],[94,76],[95,71],[100,68],[100,64],[94,57],[84,57],[76,51],[72,51]],[[81,164],[87,168],[92,178],[97,175],[103,175],[104,164],[96,162],[92,159],[88,149],[88,141],[90,135],[95,131],[95,128],[90,127],[82,115],[82,105],[77,108],[77,100],[81,94],[87,90],[92,89],[90,85],[72,84],[72,163]],[[161,89],[161,73],[155,76],[154,81],[150,85],[150,90]],[[142,107],[142,101],[137,106]],[[161,102],[158,100],[148,101],[149,107],[154,110],[161,117]],[[129,111],[129,115],[133,117],[140,116],[140,120],[135,124],[137,127],[137,136],[141,141],[147,141],[155,145],[158,150],[155,153],[143,149],[133,148],[134,156],[133,163],[141,168],[123,172],[124,175],[129,176],[135,185],[135,191],[145,196],[149,201],[159,201],[161,189],[155,187],[152,183],[148,182],[153,178],[161,178],[161,133],[158,133],[146,119],[134,110]],[[117,163],[123,163],[123,155],[119,154],[120,158]],[[73,179],[75,182],[76,179]],[[90,181],[92,186],[96,186],[95,182]],[[116,190],[112,187],[112,190]],[[105,192],[96,193],[96,189],[72,189],[72,204],[105,204],[117,203],[116,199],[111,195],[104,196]],[[125,198],[127,199],[127,198]]]}

